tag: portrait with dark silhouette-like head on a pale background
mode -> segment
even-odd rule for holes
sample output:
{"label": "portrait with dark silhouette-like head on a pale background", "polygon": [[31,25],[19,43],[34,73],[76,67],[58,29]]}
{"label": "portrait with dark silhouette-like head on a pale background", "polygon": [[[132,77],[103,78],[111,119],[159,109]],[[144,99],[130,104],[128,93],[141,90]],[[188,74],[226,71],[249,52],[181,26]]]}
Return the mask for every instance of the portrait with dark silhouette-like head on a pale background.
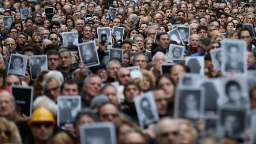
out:
{"label": "portrait with dark silhouette-like head on a pale background", "polygon": [[186,56],[185,60],[190,73],[200,73],[204,76],[204,56]]}

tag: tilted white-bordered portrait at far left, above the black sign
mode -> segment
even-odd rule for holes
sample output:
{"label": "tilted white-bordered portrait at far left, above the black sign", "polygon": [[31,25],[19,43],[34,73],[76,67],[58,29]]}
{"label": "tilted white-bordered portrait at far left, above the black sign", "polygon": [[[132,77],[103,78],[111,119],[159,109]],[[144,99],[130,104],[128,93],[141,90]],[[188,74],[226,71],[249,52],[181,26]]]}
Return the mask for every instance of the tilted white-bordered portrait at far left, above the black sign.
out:
{"label": "tilted white-bordered portrait at far left, above the black sign", "polygon": [[26,72],[28,56],[20,54],[11,54],[8,74],[24,76]]}

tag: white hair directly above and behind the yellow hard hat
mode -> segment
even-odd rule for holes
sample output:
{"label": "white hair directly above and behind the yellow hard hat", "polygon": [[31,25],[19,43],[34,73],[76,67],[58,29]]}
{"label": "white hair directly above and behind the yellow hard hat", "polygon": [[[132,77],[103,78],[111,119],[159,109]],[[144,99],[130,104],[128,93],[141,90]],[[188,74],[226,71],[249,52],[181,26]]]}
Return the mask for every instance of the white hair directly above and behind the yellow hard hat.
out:
{"label": "white hair directly above and behind the yellow hard hat", "polygon": [[55,104],[55,102],[53,102],[53,100],[50,99],[48,96],[38,96],[33,102],[33,108],[35,109],[35,107],[38,107],[39,104],[41,104],[40,107],[44,106],[49,111],[51,111],[54,116],[57,115],[58,105]]}

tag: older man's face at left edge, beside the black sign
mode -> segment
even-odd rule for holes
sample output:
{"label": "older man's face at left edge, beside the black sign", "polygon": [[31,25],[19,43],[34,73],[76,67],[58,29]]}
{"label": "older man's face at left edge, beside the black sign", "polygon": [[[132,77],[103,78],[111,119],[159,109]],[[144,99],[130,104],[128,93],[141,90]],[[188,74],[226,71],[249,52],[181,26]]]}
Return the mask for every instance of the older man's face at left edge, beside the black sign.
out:
{"label": "older man's face at left edge, beside the black sign", "polygon": [[9,92],[0,92],[0,116],[10,118],[15,111],[15,104]]}

